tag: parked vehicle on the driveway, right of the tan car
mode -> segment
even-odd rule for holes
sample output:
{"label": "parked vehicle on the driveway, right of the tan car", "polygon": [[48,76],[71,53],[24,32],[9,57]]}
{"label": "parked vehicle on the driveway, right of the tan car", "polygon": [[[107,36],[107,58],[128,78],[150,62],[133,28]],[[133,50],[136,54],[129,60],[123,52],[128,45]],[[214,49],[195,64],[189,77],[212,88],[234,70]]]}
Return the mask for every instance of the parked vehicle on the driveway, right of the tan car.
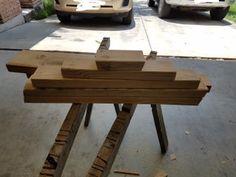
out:
{"label": "parked vehicle on the driveway, right of the tan car", "polygon": [[225,0],[149,0],[149,7],[158,3],[158,16],[166,18],[172,8],[183,10],[210,11],[211,19],[222,20],[229,11],[229,3]]}

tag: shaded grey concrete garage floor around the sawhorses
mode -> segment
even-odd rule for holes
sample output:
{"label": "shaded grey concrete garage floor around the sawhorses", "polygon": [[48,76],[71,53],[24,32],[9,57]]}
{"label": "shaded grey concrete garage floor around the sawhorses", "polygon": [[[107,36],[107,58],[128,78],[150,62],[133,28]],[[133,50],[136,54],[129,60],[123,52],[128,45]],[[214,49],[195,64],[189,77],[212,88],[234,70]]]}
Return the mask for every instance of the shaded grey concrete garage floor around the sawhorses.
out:
{"label": "shaded grey concrete garage floor around the sawhorses", "polygon": [[[26,77],[5,68],[15,54],[0,52],[0,177],[36,177],[69,105],[23,103]],[[236,63],[173,61],[207,74],[211,92],[199,106],[163,106],[170,142],[164,156],[150,106],[138,106],[110,177],[124,176],[114,169],[138,171],[142,177],[154,177],[161,169],[170,177],[236,176]],[[114,119],[112,105],[95,105],[90,126],[78,132],[63,177],[85,176]],[[172,153],[177,160],[170,160]]]}

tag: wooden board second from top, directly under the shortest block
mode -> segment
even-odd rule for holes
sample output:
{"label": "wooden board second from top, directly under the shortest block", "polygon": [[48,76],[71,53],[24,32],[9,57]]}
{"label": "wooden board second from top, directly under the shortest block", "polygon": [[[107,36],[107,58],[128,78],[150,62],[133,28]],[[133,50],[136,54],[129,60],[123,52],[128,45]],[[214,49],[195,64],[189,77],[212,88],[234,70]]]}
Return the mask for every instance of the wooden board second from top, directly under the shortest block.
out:
{"label": "wooden board second from top, directly under the shortest block", "polygon": [[174,80],[176,69],[171,62],[147,60],[140,71],[100,71],[95,60],[84,58],[65,60],[62,64],[64,77],[81,79],[122,79],[122,80]]}

